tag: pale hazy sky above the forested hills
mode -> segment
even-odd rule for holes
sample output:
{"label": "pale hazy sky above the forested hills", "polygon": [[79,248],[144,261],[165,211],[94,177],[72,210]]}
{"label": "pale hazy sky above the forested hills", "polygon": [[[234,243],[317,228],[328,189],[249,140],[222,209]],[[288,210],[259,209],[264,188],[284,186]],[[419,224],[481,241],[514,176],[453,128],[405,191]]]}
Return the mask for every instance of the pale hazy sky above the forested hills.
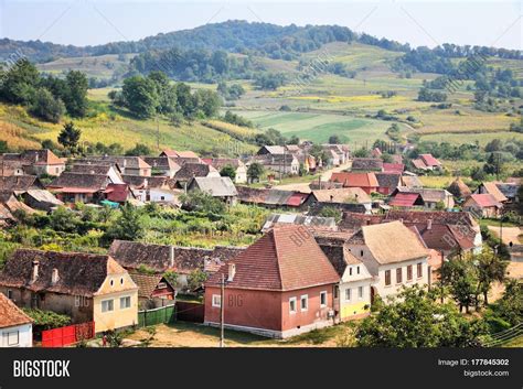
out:
{"label": "pale hazy sky above the forested hills", "polygon": [[412,45],[522,50],[523,1],[0,0],[0,36],[94,45],[232,19],[339,24]]}

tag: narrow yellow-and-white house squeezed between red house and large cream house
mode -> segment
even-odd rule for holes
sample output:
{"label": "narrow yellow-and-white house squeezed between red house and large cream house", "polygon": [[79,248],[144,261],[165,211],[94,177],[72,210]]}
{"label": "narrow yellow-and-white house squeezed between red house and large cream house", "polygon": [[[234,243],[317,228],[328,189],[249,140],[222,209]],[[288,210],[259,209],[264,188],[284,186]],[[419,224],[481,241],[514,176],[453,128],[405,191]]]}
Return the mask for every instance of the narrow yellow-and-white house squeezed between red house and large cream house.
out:
{"label": "narrow yellow-and-white house squeezed between red house and large cream house", "polygon": [[318,242],[340,275],[339,299],[334,307],[341,321],[362,318],[371,312],[371,287],[374,278],[361,259],[339,239]]}

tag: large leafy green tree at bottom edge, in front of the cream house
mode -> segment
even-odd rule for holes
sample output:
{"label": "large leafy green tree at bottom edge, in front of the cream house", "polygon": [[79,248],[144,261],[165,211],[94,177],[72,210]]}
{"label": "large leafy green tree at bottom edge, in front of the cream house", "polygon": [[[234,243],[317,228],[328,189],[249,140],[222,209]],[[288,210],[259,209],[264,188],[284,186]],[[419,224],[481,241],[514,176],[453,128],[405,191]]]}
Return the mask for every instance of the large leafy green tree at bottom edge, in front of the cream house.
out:
{"label": "large leafy green tree at bottom edge, in front of the cream house", "polygon": [[440,304],[415,285],[364,318],[355,336],[362,347],[467,347],[485,332],[481,321],[467,320],[455,305]]}

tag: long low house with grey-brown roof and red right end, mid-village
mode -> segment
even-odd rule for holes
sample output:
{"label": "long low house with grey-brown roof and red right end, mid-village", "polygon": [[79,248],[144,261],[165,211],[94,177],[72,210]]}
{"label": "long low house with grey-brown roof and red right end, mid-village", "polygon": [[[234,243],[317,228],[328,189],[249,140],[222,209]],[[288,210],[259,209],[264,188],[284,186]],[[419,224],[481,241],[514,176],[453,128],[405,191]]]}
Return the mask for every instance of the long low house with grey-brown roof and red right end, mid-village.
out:
{"label": "long low house with grey-brown roof and red right end, mid-village", "polygon": [[306,209],[312,204],[310,193],[248,186],[236,186],[236,191],[241,203],[267,208]]}

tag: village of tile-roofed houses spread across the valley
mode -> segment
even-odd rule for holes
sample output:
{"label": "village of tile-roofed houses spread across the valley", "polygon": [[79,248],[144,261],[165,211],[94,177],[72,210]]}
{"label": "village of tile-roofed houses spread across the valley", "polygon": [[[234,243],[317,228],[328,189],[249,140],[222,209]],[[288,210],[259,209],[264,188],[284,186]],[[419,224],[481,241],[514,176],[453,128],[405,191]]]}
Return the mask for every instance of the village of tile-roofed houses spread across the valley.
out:
{"label": "village of tile-roofed houses spread across the valley", "polygon": [[[126,230],[105,251],[10,245],[0,272],[3,346],[140,346],[129,334],[172,323],[221,327],[222,345],[224,328],[292,339],[356,323],[408,288],[439,289],[445,263],[485,250],[508,263],[483,290],[485,300],[500,299],[502,281],[521,280],[519,227],[514,217],[506,221],[521,212],[519,179],[473,192],[460,177],[447,190],[428,188],[419,175],[445,169],[431,154],[406,161],[398,150],[384,162],[378,148],[357,158],[346,145],[322,144],[322,161],[311,147],[264,145],[244,159],[168,149],[157,156],[2,154],[4,231],[35,215],[67,219],[86,208],[194,212],[211,204],[227,213],[244,204],[267,215],[248,245],[151,244]],[[310,183],[285,184],[314,173]],[[456,301],[467,312],[479,304]]]}

